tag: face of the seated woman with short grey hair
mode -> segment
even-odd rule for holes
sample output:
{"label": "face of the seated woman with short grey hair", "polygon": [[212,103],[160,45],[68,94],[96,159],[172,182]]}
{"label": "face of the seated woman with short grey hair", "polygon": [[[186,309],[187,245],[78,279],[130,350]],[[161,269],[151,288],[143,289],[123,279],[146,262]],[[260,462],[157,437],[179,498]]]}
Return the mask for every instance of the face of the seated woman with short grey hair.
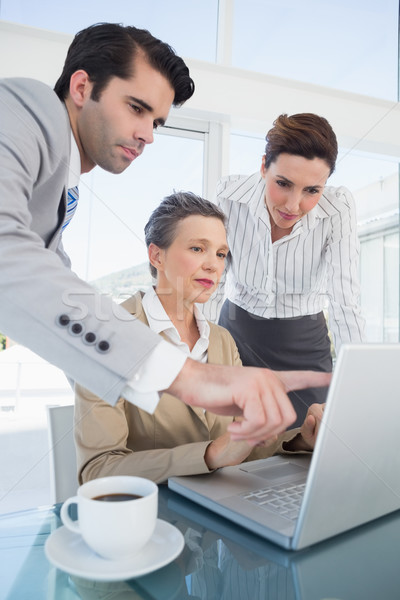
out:
{"label": "face of the seated woman with short grey hair", "polygon": [[186,304],[206,302],[218,286],[228,252],[220,219],[200,215],[182,219],[169,248],[162,250],[154,244],[149,248],[158,272],[158,295],[173,295]]}

